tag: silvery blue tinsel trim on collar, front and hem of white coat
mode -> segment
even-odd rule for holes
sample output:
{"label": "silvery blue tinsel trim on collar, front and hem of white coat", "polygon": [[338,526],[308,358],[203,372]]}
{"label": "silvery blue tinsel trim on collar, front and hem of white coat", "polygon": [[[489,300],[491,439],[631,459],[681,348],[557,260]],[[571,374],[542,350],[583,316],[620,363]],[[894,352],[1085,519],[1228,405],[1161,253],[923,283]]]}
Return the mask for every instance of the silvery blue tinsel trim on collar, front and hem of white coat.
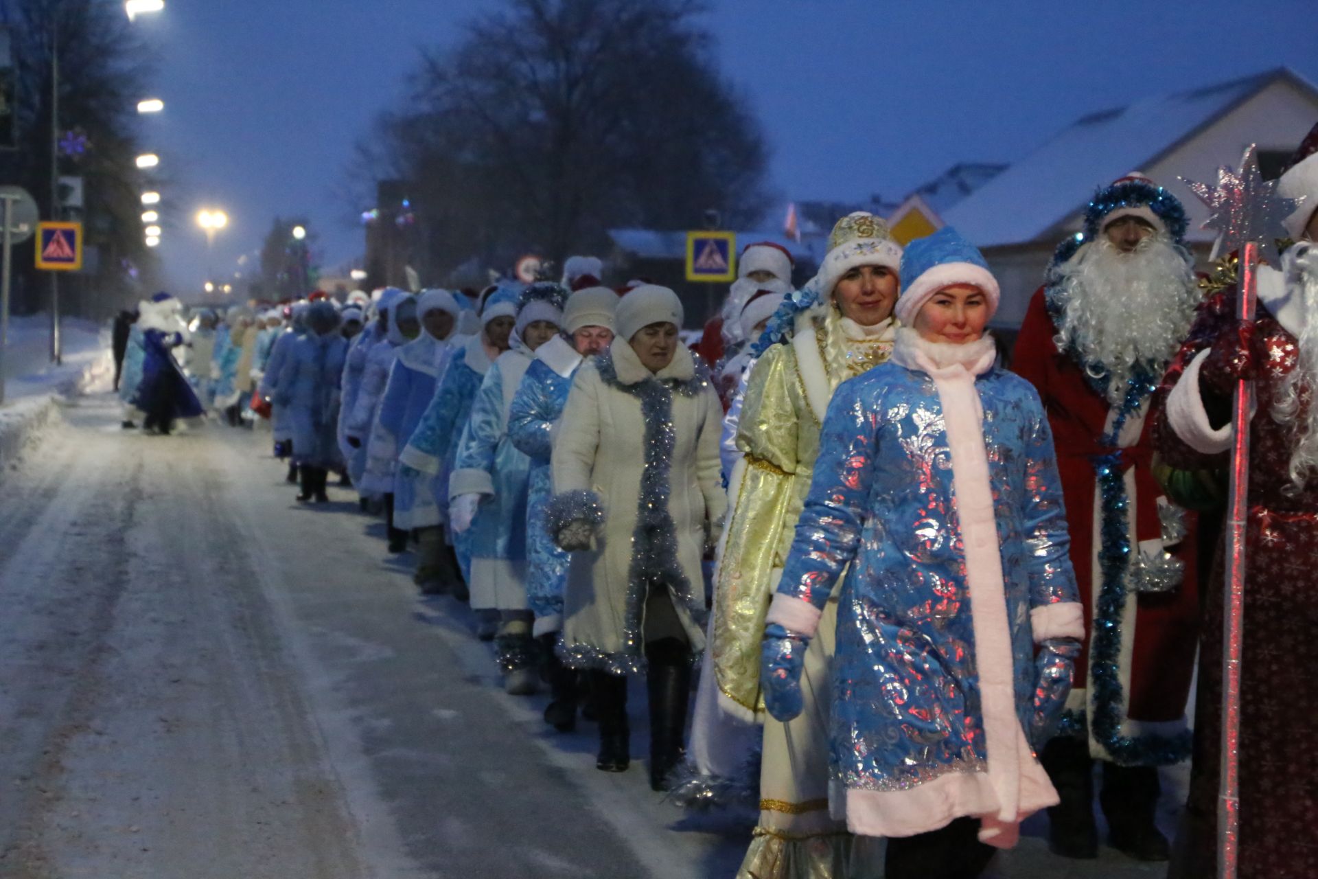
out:
{"label": "silvery blue tinsel trim on collar, front and hem of white coat", "polygon": [[627,594],[623,602],[622,652],[608,654],[589,644],[563,643],[559,647],[559,658],[571,668],[602,668],[614,675],[634,675],[646,669],[643,605],[651,585],[667,586],[673,598],[692,611],[696,622],[702,623],[700,617],[704,614],[700,611],[704,609],[704,596],[699,602],[695,600],[691,581],[677,561],[677,526],[668,511],[670,461],[676,440],[672,395],[677,393],[683,397],[695,397],[706,389],[712,390],[713,386],[709,370],[699,362],[696,374],[691,380],[673,382],[671,387],[654,376],[634,385],[621,382],[609,353],[596,358],[596,369],[605,385],[641,402],[641,420],[645,430],[645,461],[641,469],[637,525],[631,532],[631,560],[627,565]]}

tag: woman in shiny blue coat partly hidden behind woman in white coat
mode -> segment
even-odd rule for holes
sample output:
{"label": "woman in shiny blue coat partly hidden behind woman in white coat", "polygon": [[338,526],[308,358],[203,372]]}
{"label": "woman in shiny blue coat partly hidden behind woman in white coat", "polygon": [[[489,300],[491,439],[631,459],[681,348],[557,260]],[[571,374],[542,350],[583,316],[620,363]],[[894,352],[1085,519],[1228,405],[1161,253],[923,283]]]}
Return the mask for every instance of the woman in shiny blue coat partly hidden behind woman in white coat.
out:
{"label": "woman in shiny blue coat partly hidden behind woman in white coat", "polygon": [[532,634],[540,640],[554,701],[544,721],[559,731],[576,726],[576,672],[564,667],[555,652],[563,629],[563,584],[569,556],[560,550],[544,522],[544,507],[554,497],[550,455],[559,415],[572,390],[572,376],[587,357],[613,341],[613,311],[618,295],[609,287],[587,287],[568,297],[563,307],[563,333],[535,349],[507,412],[507,438],[531,459],[526,503],[526,598],[535,614]]}

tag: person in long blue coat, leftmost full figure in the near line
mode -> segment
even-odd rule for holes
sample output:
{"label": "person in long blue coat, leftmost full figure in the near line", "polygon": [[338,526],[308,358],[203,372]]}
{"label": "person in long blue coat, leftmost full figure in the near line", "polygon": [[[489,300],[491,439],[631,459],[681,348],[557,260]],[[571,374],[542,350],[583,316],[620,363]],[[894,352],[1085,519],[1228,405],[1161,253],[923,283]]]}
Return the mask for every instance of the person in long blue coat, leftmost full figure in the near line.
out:
{"label": "person in long blue coat, leftmost full figure in the near line", "polygon": [[293,463],[302,474],[299,501],[324,503],[326,478],[339,467],[339,377],[348,343],[339,333],[339,311],[330,302],[307,306],[307,332],[297,336],[279,366],[272,402],[293,436]]}

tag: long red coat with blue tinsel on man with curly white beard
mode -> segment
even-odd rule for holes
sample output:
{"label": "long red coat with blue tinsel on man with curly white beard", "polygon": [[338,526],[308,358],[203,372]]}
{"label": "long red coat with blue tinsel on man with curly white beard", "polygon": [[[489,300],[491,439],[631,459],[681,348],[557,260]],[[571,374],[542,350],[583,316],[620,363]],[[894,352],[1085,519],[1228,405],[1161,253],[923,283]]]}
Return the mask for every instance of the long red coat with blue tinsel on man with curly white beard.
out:
{"label": "long red coat with blue tinsel on man with curly white beard", "polygon": [[[1058,352],[1045,290],[1031,299],[1012,369],[1035,386],[1048,412],[1066,501],[1072,564],[1085,608],[1086,639],[1058,734],[1087,729],[1090,752],[1123,766],[1176,763],[1189,756],[1190,749],[1185,706],[1199,606],[1194,514],[1184,513],[1185,536],[1173,546],[1176,535],[1168,534],[1162,546],[1160,506],[1168,501],[1153,477],[1149,418],[1161,365],[1132,394],[1139,409],[1122,419],[1116,441],[1111,441],[1118,411],[1094,387],[1077,357]],[[1164,548],[1185,565],[1180,585],[1140,590],[1139,572],[1124,560],[1136,551],[1165,559]]]}

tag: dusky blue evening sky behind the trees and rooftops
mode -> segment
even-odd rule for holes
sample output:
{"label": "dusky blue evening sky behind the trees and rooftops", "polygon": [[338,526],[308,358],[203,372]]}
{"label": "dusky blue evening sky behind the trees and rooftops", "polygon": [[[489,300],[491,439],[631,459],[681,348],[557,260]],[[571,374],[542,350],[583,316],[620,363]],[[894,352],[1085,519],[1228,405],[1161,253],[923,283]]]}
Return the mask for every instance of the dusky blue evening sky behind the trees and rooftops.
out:
{"label": "dusky blue evening sky behind the trees and rooftops", "polygon": [[[327,268],[362,252],[341,190],[355,141],[423,45],[496,0],[167,0],[138,20],[161,63],[142,119],[167,190],[179,293],[232,277],[275,215]],[[1289,66],[1318,82],[1313,0],[710,0],[722,72],[763,123],[786,200],[902,195],[960,161],[1019,158],[1077,116]],[[1236,157],[1224,156],[1223,162]],[[223,207],[211,257],[192,216]],[[369,204],[360,206],[370,207]]]}

